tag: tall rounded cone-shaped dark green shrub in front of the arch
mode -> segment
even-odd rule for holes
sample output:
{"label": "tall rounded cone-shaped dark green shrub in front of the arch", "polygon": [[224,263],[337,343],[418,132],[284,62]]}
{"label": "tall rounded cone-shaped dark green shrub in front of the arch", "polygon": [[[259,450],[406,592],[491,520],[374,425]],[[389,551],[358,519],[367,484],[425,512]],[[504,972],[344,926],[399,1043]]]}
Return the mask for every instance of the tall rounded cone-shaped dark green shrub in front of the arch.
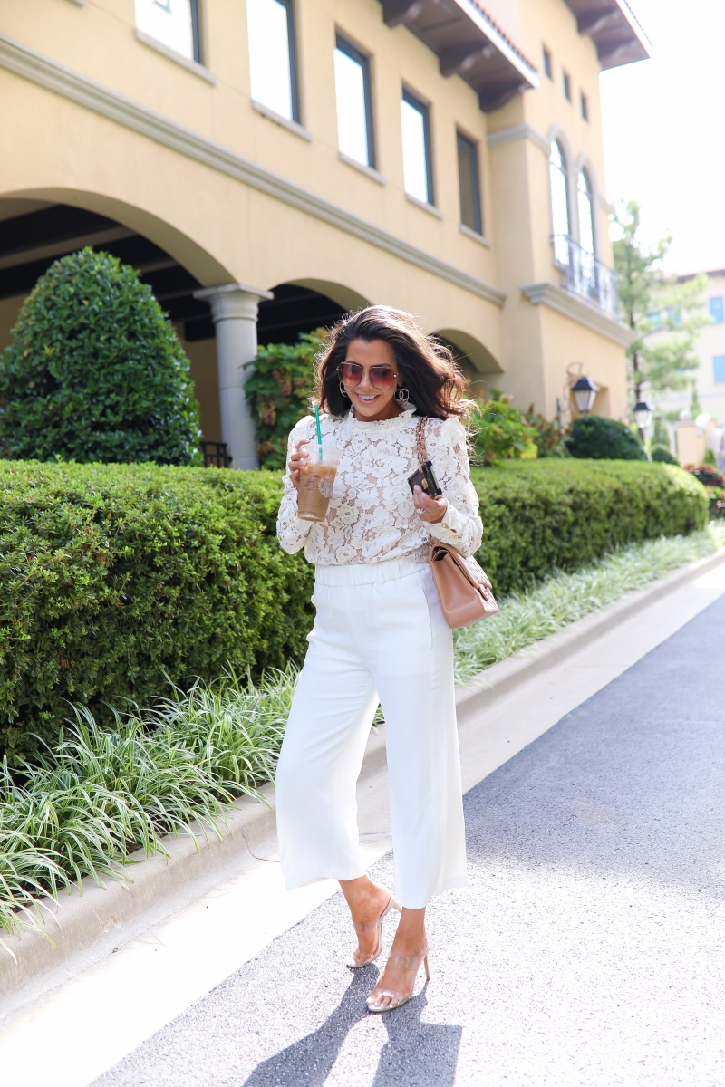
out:
{"label": "tall rounded cone-shaped dark green shrub in front of the arch", "polygon": [[11,460],[192,464],[199,405],[173,326],[135,271],[87,248],[51,264],[0,355]]}

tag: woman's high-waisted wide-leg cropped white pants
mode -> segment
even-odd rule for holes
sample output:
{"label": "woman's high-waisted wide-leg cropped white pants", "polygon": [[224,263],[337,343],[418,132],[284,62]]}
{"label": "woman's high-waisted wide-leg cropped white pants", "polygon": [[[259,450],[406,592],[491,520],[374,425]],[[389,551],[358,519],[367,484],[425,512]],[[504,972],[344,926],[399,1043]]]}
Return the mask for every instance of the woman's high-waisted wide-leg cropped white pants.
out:
{"label": "woman's high-waisted wide-leg cropped white pants", "polygon": [[453,640],[430,569],[413,559],[317,566],[312,602],[276,777],[287,888],[364,874],[355,783],[379,698],[396,898],[420,909],[466,882]]}

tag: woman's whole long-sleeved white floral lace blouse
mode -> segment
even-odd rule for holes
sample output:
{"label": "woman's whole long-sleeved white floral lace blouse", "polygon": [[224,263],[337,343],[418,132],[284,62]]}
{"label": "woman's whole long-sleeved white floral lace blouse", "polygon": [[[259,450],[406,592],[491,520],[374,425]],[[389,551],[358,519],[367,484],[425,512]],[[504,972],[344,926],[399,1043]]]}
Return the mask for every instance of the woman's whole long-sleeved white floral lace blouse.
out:
{"label": "woman's whole long-sleeved white floral lace blouse", "polygon": [[[480,547],[483,525],[478,496],[468,478],[465,432],[457,418],[429,418],[426,449],[438,485],[448,499],[443,520],[436,525],[415,512],[408,477],[417,468],[415,409],[395,418],[361,423],[352,409],[337,418],[321,420],[323,441],[342,451],[327,516],[300,521],[297,490],[284,476],[285,493],[277,517],[277,537],[292,554],[304,548],[309,562],[323,566],[384,562],[403,555],[427,559],[432,537],[451,544],[463,555]],[[300,420],[289,436],[288,455],[315,430],[311,415]]]}

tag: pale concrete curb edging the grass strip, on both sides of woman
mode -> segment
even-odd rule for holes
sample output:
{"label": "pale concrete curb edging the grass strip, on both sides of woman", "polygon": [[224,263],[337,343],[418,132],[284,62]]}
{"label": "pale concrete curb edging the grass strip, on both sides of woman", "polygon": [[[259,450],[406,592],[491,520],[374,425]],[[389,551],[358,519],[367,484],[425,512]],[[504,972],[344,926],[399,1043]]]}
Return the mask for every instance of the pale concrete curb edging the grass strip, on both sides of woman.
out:
{"label": "pale concrete curb edging the grass strip, on both sides of woman", "polygon": [[[476,714],[532,677],[724,562],[725,553],[716,552],[673,571],[482,672],[457,691],[459,725],[471,724]],[[378,774],[385,762],[382,727],[371,734],[361,782]],[[265,786],[262,792],[272,802],[272,787]],[[225,811],[221,837],[198,825],[191,830],[195,837],[164,839],[167,857],[146,858],[142,851],[136,852],[132,861],[138,866],[125,870],[127,884],[97,887],[86,880],[83,894],[74,886],[58,904],[49,901],[52,920],[46,930],[53,944],[30,932],[22,938],[3,936],[15,961],[0,949],[0,1017],[75,976],[213,887],[270,861],[276,850],[274,812],[246,797]]]}

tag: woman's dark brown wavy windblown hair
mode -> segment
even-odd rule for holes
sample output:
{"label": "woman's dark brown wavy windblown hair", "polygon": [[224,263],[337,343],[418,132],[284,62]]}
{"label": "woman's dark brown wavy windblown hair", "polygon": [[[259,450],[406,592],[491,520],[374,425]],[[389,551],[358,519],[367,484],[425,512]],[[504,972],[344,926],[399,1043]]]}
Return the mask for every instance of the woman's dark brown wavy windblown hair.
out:
{"label": "woman's dark brown wavy windblown hair", "polygon": [[315,397],[322,411],[339,417],[350,408],[349,399],[340,392],[337,367],[355,339],[390,345],[400,383],[408,389],[416,415],[455,416],[467,423],[475,403],[465,396],[465,382],[451,349],[434,336],[425,336],[410,313],[389,305],[346,313],[330,329],[315,367]]}

